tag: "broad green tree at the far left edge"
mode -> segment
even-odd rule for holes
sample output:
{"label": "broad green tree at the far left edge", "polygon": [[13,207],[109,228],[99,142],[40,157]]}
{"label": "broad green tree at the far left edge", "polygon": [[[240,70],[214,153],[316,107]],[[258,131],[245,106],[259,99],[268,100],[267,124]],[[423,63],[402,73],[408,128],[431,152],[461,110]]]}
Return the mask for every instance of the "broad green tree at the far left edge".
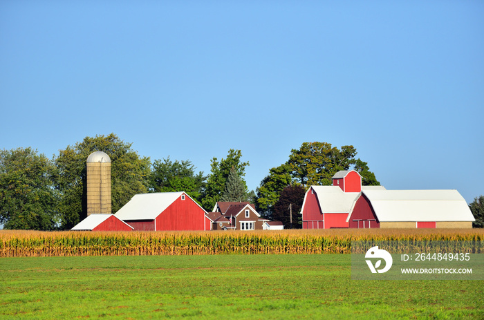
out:
{"label": "broad green tree at the far left edge", "polygon": [[0,223],[6,229],[57,225],[54,164],[30,147],[0,151]]}

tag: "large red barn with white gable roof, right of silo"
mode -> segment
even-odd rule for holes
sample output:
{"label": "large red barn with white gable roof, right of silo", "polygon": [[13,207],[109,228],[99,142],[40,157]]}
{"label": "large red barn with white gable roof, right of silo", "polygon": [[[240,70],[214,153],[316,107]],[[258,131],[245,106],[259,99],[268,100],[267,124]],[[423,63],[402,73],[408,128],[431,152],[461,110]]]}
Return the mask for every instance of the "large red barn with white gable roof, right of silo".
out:
{"label": "large red barn with white gable roof, right of silo", "polygon": [[206,211],[185,192],[136,194],[115,216],[135,230],[210,230]]}

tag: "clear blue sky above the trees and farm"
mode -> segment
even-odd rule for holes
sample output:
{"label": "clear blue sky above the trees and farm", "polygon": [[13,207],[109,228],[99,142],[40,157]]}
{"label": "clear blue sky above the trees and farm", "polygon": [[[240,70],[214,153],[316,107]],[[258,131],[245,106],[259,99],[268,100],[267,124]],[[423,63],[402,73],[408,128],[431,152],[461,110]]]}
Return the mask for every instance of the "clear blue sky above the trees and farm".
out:
{"label": "clear blue sky above the trees and farm", "polygon": [[303,142],[387,189],[484,194],[483,1],[1,1],[0,149],[117,134],[151,160]]}

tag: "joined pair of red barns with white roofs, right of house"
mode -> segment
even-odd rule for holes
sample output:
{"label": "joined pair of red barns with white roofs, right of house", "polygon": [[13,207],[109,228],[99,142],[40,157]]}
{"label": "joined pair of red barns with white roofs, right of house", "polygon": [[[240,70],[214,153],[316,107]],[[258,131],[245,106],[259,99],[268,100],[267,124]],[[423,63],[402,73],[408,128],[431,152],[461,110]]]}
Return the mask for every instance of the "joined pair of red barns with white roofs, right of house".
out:
{"label": "joined pair of red barns with white roofs, right of house", "polygon": [[354,170],[339,171],[332,186],[311,186],[303,228],[472,227],[474,217],[456,190],[387,190],[361,181]]}

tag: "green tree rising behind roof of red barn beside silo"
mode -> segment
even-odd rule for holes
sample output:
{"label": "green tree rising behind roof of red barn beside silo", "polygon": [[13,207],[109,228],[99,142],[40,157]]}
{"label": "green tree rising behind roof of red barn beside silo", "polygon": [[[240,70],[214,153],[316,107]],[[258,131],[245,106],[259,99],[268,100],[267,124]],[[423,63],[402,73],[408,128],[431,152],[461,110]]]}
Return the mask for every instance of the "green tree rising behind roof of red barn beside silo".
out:
{"label": "green tree rising behind roof of red barn beside silo", "polygon": [[193,199],[200,201],[205,188],[203,172],[195,173],[196,167],[189,160],[174,162],[167,159],[155,160],[151,171],[151,189],[155,192],[185,191]]}

